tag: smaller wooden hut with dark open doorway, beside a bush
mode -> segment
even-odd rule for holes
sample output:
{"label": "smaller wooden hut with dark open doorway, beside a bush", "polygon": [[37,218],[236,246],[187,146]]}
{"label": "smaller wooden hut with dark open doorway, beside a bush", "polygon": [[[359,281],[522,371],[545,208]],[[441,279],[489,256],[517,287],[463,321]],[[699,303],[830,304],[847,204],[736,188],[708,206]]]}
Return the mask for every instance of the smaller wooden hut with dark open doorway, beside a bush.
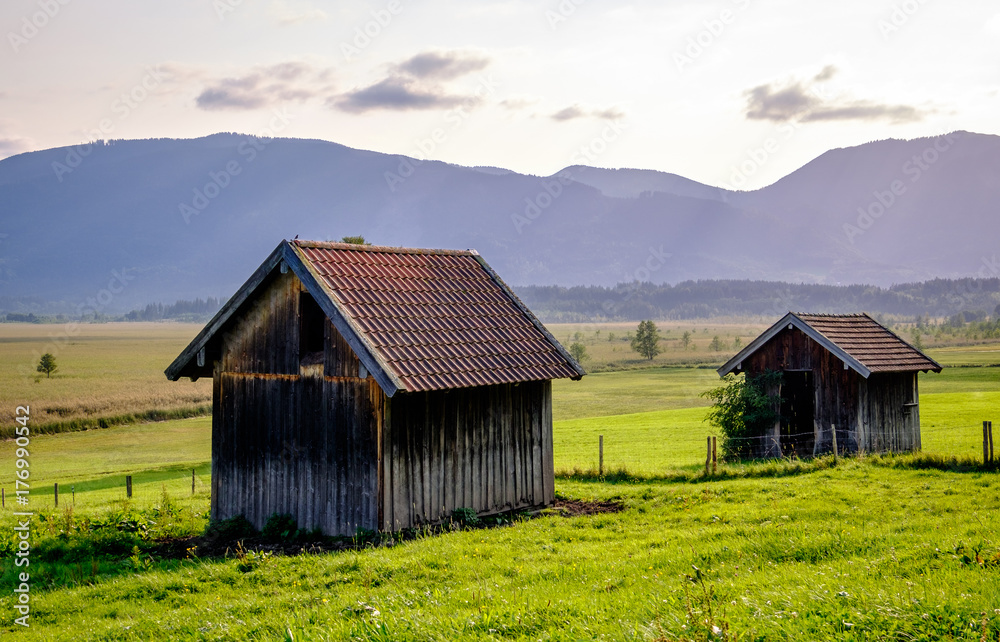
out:
{"label": "smaller wooden hut with dark open doorway, beside a bush", "polygon": [[941,366],[867,314],[788,313],[719,368],[782,374],[757,456],[920,449],[918,372]]}

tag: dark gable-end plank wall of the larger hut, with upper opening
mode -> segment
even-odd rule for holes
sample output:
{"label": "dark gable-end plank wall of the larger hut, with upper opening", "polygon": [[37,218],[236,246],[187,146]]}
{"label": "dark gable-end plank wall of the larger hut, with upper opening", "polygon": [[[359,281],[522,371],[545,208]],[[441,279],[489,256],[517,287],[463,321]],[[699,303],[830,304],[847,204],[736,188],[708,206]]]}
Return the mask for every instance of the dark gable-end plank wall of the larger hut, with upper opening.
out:
{"label": "dark gable-end plank wall of the larger hut, with upper opening", "polygon": [[291,274],[266,287],[226,334],[213,408],[212,516],[257,528],[276,513],[350,535],[378,518],[383,395],[332,324],[324,363],[301,365]]}

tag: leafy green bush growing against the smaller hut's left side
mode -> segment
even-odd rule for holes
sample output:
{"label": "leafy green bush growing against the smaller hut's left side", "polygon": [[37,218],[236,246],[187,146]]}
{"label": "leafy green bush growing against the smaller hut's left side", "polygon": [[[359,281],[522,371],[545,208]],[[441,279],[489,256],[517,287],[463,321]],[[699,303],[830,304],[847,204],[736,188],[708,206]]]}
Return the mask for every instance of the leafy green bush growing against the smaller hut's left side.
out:
{"label": "leafy green bush growing against the smaller hut's left side", "polygon": [[781,373],[764,371],[753,377],[728,374],[723,385],[702,393],[712,400],[708,421],[722,433],[722,455],[726,459],[744,459],[753,454],[757,438],[762,437],[780,417],[777,388]]}

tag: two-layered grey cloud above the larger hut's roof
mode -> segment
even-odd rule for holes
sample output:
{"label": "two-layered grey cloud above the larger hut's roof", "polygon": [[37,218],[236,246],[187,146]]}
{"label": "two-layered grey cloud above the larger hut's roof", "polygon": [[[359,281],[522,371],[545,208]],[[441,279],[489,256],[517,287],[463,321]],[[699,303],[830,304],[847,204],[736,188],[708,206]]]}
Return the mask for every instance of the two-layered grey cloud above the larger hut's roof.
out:
{"label": "two-layered grey cloud above the larger hut's roof", "polygon": [[477,96],[449,91],[442,82],[481,71],[490,59],[465,51],[427,51],[390,65],[382,80],[328,100],[331,107],[364,113],[373,110],[409,111],[474,106]]}

